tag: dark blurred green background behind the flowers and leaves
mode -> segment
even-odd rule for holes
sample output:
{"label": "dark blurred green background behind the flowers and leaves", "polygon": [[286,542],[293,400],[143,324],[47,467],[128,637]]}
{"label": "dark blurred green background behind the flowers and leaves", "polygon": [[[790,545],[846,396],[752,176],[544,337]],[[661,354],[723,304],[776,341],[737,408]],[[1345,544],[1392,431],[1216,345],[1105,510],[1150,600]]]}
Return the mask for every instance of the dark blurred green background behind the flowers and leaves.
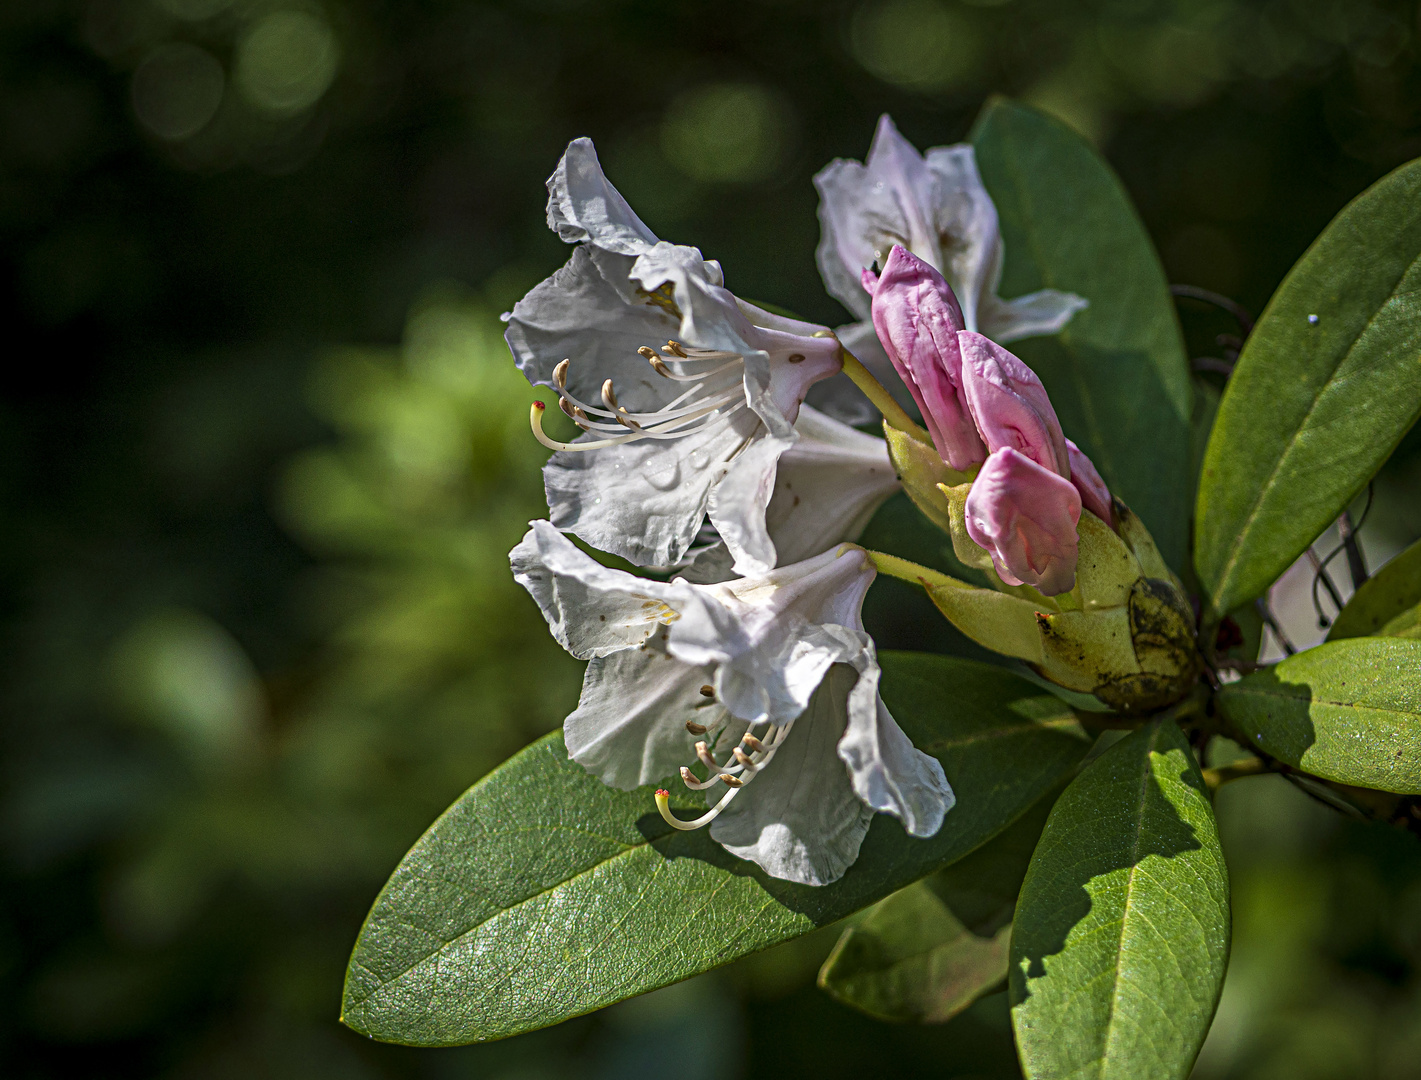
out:
{"label": "dark blurred green background behind the flowers and leaves", "polygon": [[[659,234],[840,323],[810,176],[1007,92],[1101,148],[1171,280],[1258,311],[1421,153],[1418,34],[1381,0],[0,6],[0,1070],[1016,1076],[1003,995],[918,1029],[823,996],[834,931],[493,1046],[335,1023],[401,854],[577,695],[506,563],[544,512],[497,321],[566,257],[543,179],[591,135]],[[1229,328],[1184,317],[1196,355]],[[1421,536],[1418,460],[1371,550]],[[1412,838],[1273,779],[1219,816],[1196,1076],[1421,1076]]]}

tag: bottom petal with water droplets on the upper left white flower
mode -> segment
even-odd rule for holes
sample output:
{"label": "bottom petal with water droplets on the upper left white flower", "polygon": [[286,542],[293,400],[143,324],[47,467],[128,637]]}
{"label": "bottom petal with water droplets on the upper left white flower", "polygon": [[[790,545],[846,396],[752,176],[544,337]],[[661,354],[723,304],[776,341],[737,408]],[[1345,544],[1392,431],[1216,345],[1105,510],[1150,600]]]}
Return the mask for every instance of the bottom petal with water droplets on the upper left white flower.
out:
{"label": "bottom petal with water droplets on the upper left white flower", "polygon": [[549,514],[635,566],[674,566],[695,541],[710,489],[759,429],[742,411],[679,439],[560,450],[543,468]]}

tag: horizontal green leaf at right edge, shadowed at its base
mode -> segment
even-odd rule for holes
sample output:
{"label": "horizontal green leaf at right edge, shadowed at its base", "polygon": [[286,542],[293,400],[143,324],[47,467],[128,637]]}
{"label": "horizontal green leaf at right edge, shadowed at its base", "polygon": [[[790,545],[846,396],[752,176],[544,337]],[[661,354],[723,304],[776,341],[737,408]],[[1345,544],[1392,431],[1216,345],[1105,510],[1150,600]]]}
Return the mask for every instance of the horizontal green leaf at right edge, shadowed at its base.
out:
{"label": "horizontal green leaf at right edge, shadowed at its base", "polygon": [[1347,638],[1219,691],[1245,746],[1357,787],[1421,794],[1421,641]]}

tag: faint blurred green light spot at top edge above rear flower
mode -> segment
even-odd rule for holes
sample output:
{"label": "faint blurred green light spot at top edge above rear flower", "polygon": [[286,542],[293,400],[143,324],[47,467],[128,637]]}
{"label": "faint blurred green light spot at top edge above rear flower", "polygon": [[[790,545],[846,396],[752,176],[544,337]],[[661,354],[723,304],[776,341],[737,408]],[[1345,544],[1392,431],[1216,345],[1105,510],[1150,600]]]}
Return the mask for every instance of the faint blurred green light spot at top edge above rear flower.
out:
{"label": "faint blurred green light spot at top edge above rear flower", "polygon": [[884,82],[924,92],[972,81],[982,40],[972,23],[938,0],[870,0],[850,23],[848,48]]}

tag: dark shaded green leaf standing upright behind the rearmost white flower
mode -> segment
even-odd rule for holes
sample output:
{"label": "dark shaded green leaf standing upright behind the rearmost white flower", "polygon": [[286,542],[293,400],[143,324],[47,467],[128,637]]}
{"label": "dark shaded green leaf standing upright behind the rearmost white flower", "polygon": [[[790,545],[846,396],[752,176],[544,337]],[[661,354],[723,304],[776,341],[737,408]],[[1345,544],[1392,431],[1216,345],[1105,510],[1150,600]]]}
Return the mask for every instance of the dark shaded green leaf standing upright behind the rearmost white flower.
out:
{"label": "dark shaded green leaf standing upright behind the rearmost white flower", "polygon": [[1194,391],[1160,259],[1114,171],[1080,135],[1005,99],[972,132],[1002,222],[1002,296],[1077,293],[1090,307],[1052,338],[1010,342],[1066,435],[1184,567]]}

